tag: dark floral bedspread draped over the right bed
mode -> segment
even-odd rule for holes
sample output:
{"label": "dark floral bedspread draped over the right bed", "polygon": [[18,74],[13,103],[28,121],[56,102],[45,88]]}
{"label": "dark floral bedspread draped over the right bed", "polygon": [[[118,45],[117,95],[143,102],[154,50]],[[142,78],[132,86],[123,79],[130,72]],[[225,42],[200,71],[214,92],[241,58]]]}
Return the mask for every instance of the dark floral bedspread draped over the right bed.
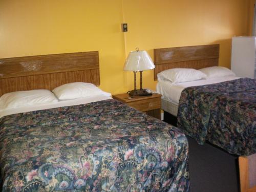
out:
{"label": "dark floral bedspread draped over the right bed", "polygon": [[256,80],[240,78],[182,91],[177,126],[199,144],[256,153]]}

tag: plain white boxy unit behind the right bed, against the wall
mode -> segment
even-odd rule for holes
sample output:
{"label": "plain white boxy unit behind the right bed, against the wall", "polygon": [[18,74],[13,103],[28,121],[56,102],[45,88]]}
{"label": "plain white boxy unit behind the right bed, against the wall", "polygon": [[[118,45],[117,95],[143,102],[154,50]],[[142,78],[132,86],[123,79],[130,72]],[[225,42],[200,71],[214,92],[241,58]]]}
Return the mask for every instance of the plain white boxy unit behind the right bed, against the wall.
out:
{"label": "plain white boxy unit behind the right bed, against the wall", "polygon": [[233,37],[231,70],[239,77],[256,79],[256,37]]}

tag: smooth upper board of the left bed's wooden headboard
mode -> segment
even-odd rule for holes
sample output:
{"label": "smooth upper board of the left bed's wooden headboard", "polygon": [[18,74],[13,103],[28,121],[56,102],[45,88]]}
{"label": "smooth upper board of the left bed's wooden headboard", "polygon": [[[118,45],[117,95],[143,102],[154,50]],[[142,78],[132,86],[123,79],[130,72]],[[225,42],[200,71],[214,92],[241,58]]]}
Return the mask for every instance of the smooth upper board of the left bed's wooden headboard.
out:
{"label": "smooth upper board of the left bed's wooden headboard", "polygon": [[0,78],[99,69],[97,51],[0,59]]}

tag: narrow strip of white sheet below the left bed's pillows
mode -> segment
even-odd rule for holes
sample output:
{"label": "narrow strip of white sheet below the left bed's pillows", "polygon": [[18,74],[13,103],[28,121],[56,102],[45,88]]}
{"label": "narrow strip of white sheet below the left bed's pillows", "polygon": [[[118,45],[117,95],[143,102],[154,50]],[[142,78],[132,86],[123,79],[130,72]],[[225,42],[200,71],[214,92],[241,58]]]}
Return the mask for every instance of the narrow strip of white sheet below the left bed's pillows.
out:
{"label": "narrow strip of white sheet below the left bed's pillows", "polygon": [[46,109],[52,109],[52,108],[59,108],[61,106],[72,106],[72,105],[78,105],[78,104],[86,104],[86,103],[96,102],[96,101],[101,101],[101,100],[106,100],[106,99],[112,99],[111,94],[110,94],[110,96],[99,95],[99,96],[72,99],[72,100],[60,100],[56,103],[40,104],[40,105],[37,105],[37,106],[25,106],[25,107],[22,107],[22,108],[0,110],[0,118],[4,117],[6,115],[11,115],[11,114],[24,113],[24,112],[37,111],[37,110],[46,110]]}

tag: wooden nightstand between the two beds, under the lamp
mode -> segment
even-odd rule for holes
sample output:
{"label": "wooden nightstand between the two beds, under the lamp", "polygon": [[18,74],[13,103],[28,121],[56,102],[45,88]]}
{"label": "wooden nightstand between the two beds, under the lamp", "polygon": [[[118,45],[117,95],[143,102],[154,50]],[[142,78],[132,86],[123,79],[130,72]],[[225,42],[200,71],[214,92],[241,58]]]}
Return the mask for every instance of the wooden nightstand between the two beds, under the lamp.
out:
{"label": "wooden nightstand between the two beds, under the lamp", "polygon": [[153,93],[150,96],[135,96],[133,99],[129,99],[130,96],[123,93],[113,95],[113,99],[119,100],[147,115],[161,119],[161,96],[158,93]]}

